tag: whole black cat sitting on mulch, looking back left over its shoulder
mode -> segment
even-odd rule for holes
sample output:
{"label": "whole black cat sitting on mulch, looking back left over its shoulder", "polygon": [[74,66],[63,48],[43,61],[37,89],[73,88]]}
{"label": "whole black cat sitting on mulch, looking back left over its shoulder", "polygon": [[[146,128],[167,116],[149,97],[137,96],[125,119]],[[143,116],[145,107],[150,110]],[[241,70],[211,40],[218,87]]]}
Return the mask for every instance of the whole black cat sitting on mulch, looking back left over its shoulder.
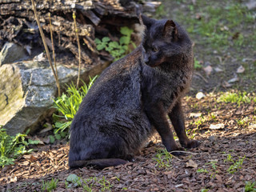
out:
{"label": "whole black cat sitting on mulch, looking back left over its shoulder", "polygon": [[181,98],[190,85],[190,38],[177,23],[142,16],[142,46],[114,62],[91,87],[74,117],[70,168],[116,166],[131,161],[155,130],[168,151],[198,146],[186,136]]}

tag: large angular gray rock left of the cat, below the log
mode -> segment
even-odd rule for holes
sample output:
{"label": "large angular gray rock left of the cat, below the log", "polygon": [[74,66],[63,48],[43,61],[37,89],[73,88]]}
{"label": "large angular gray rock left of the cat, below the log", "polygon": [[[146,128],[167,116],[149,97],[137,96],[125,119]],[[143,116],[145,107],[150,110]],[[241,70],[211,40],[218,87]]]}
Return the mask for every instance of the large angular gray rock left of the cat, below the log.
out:
{"label": "large angular gray rock left of the cat, below the log", "polygon": [[[81,77],[99,74],[108,63],[82,70]],[[76,82],[78,69],[58,64],[58,78],[62,87]],[[28,61],[0,66],[0,125],[14,135],[41,127],[42,120],[53,113],[53,98],[58,90],[49,62]]]}

